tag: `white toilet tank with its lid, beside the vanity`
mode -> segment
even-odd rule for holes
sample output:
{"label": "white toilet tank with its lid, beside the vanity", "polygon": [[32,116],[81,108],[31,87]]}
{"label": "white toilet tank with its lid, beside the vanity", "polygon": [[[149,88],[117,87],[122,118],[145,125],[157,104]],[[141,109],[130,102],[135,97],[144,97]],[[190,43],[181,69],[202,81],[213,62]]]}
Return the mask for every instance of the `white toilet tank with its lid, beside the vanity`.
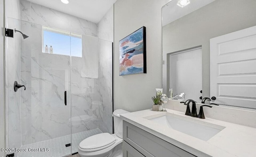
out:
{"label": "white toilet tank with its lid, beside the vanity", "polygon": [[120,137],[121,139],[123,138],[123,121],[120,118],[120,114],[124,113],[129,113],[128,111],[125,111],[123,109],[116,109],[113,112],[113,117],[114,117],[114,131],[115,134]]}

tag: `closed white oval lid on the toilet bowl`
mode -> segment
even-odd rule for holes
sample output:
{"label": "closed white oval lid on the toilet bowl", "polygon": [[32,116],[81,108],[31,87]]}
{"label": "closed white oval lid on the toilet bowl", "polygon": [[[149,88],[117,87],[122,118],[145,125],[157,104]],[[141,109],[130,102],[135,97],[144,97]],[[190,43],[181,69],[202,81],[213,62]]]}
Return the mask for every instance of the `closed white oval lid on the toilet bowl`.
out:
{"label": "closed white oval lid on the toilet bowl", "polygon": [[84,139],[79,147],[84,151],[96,151],[113,145],[115,141],[116,139],[109,133],[100,133]]}

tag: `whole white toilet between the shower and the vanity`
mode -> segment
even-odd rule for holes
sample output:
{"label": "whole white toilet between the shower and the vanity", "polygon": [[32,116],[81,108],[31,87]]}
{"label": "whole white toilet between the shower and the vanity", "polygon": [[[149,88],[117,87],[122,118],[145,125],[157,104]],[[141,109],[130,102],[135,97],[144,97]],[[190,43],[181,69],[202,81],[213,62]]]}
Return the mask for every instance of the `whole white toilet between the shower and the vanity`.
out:
{"label": "whole white toilet between the shower and the vanity", "polygon": [[123,122],[120,114],[129,113],[123,109],[116,109],[114,116],[114,134],[100,133],[90,136],[80,142],[78,154],[80,157],[110,157],[114,148],[123,141]]}

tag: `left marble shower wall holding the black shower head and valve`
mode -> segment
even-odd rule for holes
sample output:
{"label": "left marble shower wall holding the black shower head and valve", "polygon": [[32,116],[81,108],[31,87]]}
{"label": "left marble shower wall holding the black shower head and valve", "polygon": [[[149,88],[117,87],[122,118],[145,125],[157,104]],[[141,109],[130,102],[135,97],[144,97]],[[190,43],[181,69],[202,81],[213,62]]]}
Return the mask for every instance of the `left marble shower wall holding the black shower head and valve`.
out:
{"label": "left marble shower wall holding the black shower head and valve", "polygon": [[[20,0],[6,0],[6,28],[20,29],[20,22],[11,18],[20,19]],[[11,18],[8,18],[11,17]],[[20,148],[21,129],[20,129],[20,91],[14,92],[14,81],[20,80],[20,36],[14,34],[16,38],[8,38],[5,41],[8,49],[8,57],[5,57],[5,98],[6,98],[6,146],[9,148]],[[6,53],[6,52],[5,52]],[[6,56],[6,54],[5,54]],[[15,154],[16,155],[16,154]]]}

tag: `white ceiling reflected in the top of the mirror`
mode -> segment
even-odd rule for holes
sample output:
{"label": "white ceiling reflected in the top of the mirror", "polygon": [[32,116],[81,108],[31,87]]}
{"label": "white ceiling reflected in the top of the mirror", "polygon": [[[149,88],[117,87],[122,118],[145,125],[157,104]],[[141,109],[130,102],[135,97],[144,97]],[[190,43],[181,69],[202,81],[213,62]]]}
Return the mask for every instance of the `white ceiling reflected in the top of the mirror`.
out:
{"label": "white ceiling reflected in the top of the mirror", "polygon": [[214,1],[215,0],[191,0],[190,4],[181,8],[176,4],[177,0],[171,0],[162,8],[162,26],[190,14],[191,12],[194,12],[195,10],[198,10],[199,8],[202,8]]}

